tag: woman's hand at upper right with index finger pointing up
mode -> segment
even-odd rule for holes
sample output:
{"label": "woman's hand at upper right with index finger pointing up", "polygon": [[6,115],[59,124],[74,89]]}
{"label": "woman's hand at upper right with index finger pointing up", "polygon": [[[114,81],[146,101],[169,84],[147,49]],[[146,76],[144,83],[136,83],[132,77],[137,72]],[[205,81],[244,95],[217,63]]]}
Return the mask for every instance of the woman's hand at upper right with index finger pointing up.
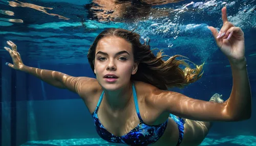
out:
{"label": "woman's hand at upper right with index finger pointing up", "polygon": [[244,33],[239,27],[227,20],[227,8],[222,8],[223,26],[218,33],[214,27],[208,27],[215,37],[217,45],[229,61],[240,62],[245,59]]}

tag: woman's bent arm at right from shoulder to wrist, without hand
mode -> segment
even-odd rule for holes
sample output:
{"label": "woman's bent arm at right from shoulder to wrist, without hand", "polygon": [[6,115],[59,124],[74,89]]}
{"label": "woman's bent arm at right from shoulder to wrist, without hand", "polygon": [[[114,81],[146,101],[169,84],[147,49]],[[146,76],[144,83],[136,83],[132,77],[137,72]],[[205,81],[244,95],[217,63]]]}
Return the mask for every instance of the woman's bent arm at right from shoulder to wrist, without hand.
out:
{"label": "woman's bent arm at right from shoulder to wrist, without hand", "polygon": [[233,76],[231,94],[224,103],[189,98],[181,93],[155,89],[147,98],[161,113],[200,121],[240,121],[251,117],[251,89],[246,61],[230,63]]}

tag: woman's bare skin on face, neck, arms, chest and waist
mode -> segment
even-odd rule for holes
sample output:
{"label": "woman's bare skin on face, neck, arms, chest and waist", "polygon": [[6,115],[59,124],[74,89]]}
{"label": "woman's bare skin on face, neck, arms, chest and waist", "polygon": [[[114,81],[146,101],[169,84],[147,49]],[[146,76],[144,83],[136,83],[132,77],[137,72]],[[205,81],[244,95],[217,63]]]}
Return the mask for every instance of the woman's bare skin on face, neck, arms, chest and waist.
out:
{"label": "woman's bare skin on face, neck, arms, chest and waist", "polygon": [[[227,21],[226,8],[222,9],[224,35],[218,35],[209,27],[217,45],[230,61],[233,87],[225,102],[207,102],[188,98],[171,91],[163,91],[153,85],[135,81],[140,115],[148,125],[158,125],[168,120],[163,136],[153,145],[176,145],[178,128],[169,113],[187,118],[181,145],[199,145],[207,135],[210,121],[239,121],[251,116],[251,90],[244,59],[244,36],[240,28]],[[28,72],[59,88],[78,93],[91,113],[94,112],[102,91],[104,98],[98,110],[98,118],[110,133],[122,136],[139,124],[132,94],[130,77],[136,74],[138,64],[133,61],[132,45],[119,37],[102,38],[96,47],[95,74],[97,79],[71,77],[58,71],[28,67],[23,64],[16,45],[8,41],[13,69]],[[114,49],[113,49],[114,48]],[[118,79],[107,82],[106,74],[115,74]]]}

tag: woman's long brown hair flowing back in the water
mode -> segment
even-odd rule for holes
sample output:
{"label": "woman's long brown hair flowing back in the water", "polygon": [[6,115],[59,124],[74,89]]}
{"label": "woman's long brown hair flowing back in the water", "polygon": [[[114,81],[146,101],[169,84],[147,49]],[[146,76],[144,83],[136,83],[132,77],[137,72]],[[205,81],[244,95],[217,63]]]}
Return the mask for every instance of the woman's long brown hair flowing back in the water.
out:
{"label": "woman's long brown hair flowing back in the water", "polygon": [[[185,61],[189,60],[178,60],[177,57],[184,56],[174,55],[169,57],[167,55],[162,55],[162,51],[158,51],[157,55],[153,54],[150,48],[150,41],[148,44],[140,43],[140,35],[124,29],[110,28],[101,32],[93,44],[91,45],[88,52],[88,61],[94,71],[94,59],[97,43],[103,37],[117,36],[130,42],[133,47],[134,62],[139,63],[138,70],[135,75],[131,76],[131,80],[142,81],[145,83],[152,84],[159,89],[166,90],[168,87],[179,87],[182,88],[190,83],[199,80],[202,75],[202,65],[196,65],[196,68],[191,68]],[[163,60],[164,57],[168,57],[166,61]],[[190,61],[189,61],[190,62]],[[182,69],[180,65],[185,68]]]}

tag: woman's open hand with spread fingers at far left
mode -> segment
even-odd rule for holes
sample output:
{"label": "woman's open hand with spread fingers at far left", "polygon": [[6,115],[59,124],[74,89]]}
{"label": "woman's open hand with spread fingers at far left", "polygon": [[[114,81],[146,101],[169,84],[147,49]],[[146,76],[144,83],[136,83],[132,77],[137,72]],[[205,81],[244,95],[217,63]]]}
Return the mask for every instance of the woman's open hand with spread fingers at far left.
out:
{"label": "woman's open hand with spread fingers at far left", "polygon": [[11,46],[12,49],[5,46],[5,50],[9,52],[12,57],[13,64],[6,62],[6,65],[10,66],[13,69],[21,70],[24,66],[22,62],[22,58],[20,58],[19,53],[17,52],[17,46],[12,41],[7,41],[7,43]]}

